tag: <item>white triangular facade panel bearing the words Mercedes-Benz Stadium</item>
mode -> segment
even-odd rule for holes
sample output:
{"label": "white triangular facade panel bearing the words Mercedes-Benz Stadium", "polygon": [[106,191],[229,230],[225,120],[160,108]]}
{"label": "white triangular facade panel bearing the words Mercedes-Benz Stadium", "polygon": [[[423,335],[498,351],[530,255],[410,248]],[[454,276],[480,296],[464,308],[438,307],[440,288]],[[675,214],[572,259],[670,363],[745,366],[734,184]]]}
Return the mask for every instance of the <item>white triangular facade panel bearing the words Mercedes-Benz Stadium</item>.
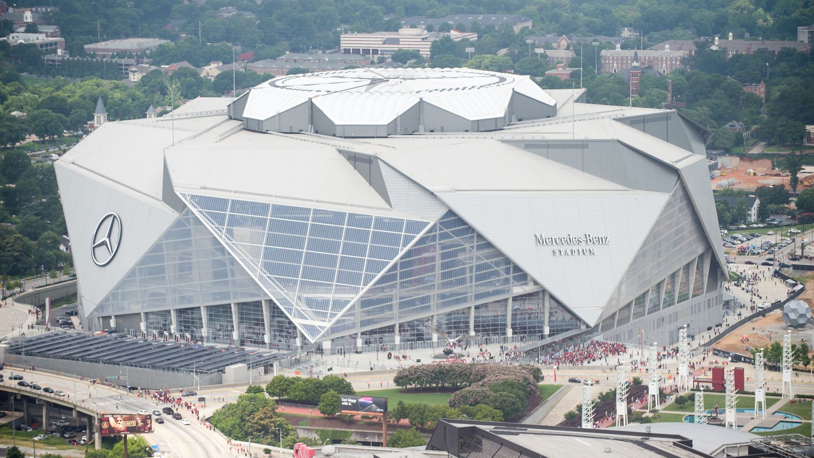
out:
{"label": "white triangular facade panel bearing the words Mercedes-Benz Stadium", "polygon": [[589,325],[667,200],[654,192],[439,197]]}

